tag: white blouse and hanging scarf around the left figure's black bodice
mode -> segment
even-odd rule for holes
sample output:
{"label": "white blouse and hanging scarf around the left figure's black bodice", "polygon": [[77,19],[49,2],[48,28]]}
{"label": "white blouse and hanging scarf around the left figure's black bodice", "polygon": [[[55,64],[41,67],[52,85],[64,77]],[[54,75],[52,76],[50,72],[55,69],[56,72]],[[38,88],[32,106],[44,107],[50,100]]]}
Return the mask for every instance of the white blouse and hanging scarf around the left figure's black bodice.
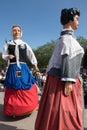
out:
{"label": "white blouse and hanging scarf around the left figure's black bodice", "polygon": [[[15,43],[16,44],[15,44]],[[26,48],[27,48],[27,57],[28,59],[30,60],[30,62],[34,65],[34,64],[37,64],[37,59],[31,49],[31,47],[24,41],[22,41],[21,39],[17,39],[17,40],[12,40],[12,41],[8,41],[7,43],[5,43],[4,47],[3,47],[3,52],[2,52],[2,58],[7,60],[7,56],[8,56],[8,45],[16,45],[15,47],[15,56],[16,56],[16,62],[17,62],[17,65],[19,66],[19,49],[18,49],[18,45],[26,45]],[[9,63],[9,60],[8,60],[8,63]]]}

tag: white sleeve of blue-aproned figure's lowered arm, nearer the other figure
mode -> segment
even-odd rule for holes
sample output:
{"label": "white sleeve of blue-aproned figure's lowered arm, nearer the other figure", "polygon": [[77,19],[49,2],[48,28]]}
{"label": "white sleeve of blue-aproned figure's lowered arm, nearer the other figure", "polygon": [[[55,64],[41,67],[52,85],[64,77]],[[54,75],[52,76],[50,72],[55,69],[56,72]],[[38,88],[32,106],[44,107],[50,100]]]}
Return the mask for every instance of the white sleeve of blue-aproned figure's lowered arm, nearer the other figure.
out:
{"label": "white sleeve of blue-aproned figure's lowered arm, nearer the other figure", "polygon": [[28,57],[28,59],[30,60],[32,65],[37,64],[37,59],[35,57],[34,52],[31,49],[31,47],[27,43],[26,43],[26,47],[27,47],[27,57]]}

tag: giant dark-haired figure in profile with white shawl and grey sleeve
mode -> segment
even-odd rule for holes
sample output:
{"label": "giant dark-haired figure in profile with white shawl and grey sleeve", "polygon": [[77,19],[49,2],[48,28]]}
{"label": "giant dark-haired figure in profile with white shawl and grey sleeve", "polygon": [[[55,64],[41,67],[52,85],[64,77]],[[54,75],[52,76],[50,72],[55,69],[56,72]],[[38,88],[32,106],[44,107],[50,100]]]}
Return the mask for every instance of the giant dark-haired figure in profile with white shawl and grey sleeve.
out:
{"label": "giant dark-haired figure in profile with white shawl and grey sleeve", "polygon": [[64,8],[63,29],[47,67],[47,79],[35,121],[35,130],[82,130],[80,64],[84,54],[74,36],[80,10]]}

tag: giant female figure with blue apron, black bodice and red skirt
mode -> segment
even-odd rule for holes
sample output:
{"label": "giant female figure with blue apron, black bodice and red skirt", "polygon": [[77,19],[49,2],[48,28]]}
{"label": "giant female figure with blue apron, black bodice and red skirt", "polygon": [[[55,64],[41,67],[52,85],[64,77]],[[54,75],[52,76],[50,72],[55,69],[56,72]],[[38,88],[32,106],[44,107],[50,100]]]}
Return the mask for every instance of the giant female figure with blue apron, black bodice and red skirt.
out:
{"label": "giant female figure with blue apron, black bodice and red skirt", "polygon": [[4,114],[22,116],[32,113],[38,107],[36,80],[26,63],[26,57],[38,71],[37,60],[31,47],[21,40],[22,28],[12,26],[13,39],[3,47],[2,58],[8,61],[4,81]]}

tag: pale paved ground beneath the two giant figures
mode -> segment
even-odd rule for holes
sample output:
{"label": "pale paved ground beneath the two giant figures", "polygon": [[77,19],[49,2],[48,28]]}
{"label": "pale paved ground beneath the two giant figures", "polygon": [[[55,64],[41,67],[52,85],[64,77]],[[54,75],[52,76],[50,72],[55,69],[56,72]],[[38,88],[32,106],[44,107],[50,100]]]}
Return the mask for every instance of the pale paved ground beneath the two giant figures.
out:
{"label": "pale paved ground beneath the two giant figures", "polygon": [[[37,111],[27,117],[7,118],[3,115],[4,92],[0,92],[0,130],[34,130]],[[87,130],[87,109],[84,114],[84,130]]]}

